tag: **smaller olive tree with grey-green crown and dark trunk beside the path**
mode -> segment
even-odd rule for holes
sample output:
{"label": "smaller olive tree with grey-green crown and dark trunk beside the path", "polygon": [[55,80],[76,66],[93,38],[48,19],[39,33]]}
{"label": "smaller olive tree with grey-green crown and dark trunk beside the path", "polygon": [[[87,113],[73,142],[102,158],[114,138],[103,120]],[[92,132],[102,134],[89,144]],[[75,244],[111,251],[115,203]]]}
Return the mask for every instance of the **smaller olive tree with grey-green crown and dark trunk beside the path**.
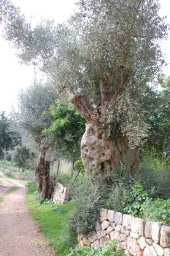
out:
{"label": "smaller olive tree with grey-green crown and dark trunk beside the path", "polygon": [[53,191],[53,183],[50,180],[50,164],[45,159],[51,143],[47,136],[42,136],[42,131],[51,124],[48,109],[50,105],[54,104],[56,97],[50,84],[36,81],[19,95],[17,122],[31,134],[40,152],[35,170],[35,181],[40,198],[50,198]]}

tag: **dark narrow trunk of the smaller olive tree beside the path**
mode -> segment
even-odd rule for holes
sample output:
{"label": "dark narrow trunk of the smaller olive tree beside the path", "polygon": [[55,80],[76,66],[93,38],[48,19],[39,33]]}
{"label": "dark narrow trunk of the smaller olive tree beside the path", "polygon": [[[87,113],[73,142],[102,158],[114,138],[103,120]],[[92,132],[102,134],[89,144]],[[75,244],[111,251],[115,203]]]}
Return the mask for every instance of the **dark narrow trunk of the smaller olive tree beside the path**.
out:
{"label": "dark narrow trunk of the smaller olive tree beside the path", "polygon": [[39,199],[51,198],[54,191],[54,180],[50,179],[50,164],[41,155],[35,170],[35,182]]}

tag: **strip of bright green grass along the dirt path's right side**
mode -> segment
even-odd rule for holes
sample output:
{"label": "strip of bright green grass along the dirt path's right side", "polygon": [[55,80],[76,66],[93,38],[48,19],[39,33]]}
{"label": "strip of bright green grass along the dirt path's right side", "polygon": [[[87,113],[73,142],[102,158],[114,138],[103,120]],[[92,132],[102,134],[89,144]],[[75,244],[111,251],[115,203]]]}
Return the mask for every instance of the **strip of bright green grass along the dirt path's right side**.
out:
{"label": "strip of bright green grass along the dirt path's right side", "polygon": [[[29,182],[31,184],[31,182]],[[58,256],[65,256],[70,247],[75,247],[77,238],[70,236],[66,229],[68,214],[72,209],[72,201],[65,205],[54,205],[50,200],[36,200],[33,186],[28,186],[26,204],[31,215],[37,221],[40,232],[49,239],[49,244]]]}

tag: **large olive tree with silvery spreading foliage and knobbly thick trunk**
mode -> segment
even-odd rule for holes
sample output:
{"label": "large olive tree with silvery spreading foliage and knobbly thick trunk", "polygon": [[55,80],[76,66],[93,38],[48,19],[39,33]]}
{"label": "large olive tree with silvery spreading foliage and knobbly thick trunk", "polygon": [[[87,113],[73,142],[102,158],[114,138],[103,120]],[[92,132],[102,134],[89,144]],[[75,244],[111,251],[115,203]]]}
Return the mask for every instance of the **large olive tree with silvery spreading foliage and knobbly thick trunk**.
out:
{"label": "large olive tree with silvery spreading foliage and knobbly thick trunk", "polygon": [[149,129],[141,101],[164,63],[158,43],[167,36],[165,19],[158,0],[79,0],[77,5],[79,11],[65,24],[45,21],[32,29],[19,9],[1,0],[4,36],[22,61],[38,65],[59,92],[68,92],[88,120],[81,146],[85,167],[111,171],[128,153],[134,168],[139,162],[134,148]]}

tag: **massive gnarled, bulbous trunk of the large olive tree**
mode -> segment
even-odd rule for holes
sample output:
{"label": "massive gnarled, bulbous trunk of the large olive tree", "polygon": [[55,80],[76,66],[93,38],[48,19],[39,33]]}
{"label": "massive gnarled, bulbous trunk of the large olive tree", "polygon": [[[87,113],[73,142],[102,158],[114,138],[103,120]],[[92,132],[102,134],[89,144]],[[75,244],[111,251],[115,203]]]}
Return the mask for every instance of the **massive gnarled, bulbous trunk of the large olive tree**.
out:
{"label": "massive gnarled, bulbous trunk of the large olive tree", "polygon": [[98,131],[90,123],[81,141],[82,163],[86,172],[95,179],[104,181],[114,179],[115,168],[123,163],[126,168],[135,168],[139,164],[136,150],[128,147],[125,136],[109,140],[104,131]]}

